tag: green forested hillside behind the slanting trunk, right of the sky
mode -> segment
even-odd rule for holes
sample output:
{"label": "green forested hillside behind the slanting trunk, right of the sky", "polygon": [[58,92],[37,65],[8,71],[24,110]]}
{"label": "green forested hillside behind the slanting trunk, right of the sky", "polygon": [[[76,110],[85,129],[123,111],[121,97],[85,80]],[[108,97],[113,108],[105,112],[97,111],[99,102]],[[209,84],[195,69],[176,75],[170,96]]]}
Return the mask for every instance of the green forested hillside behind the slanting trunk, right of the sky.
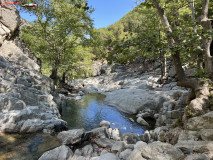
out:
{"label": "green forested hillside behind the slanting trunk, right of the sky", "polygon": [[[187,1],[178,3],[169,1],[162,5],[166,8],[166,14],[175,31],[173,36],[176,36],[178,40],[177,49],[183,53],[196,52],[199,54],[201,51],[197,47],[201,42],[200,37],[197,37],[194,32],[194,28],[198,27],[196,29],[198,34],[202,32],[196,22],[201,14],[201,2],[196,2],[194,15],[192,15],[190,3]],[[212,2],[209,4],[208,15],[210,19],[213,18]],[[141,3],[119,21],[107,28],[98,29],[101,35],[99,38],[103,40],[104,45],[102,45],[102,50],[98,50],[99,53],[96,54],[105,55],[109,61],[116,59],[119,63],[134,61],[137,56],[151,59],[159,58],[161,55],[170,56],[164,31],[152,3]],[[185,55],[185,53],[182,57],[183,64],[191,61],[191,55]]]}

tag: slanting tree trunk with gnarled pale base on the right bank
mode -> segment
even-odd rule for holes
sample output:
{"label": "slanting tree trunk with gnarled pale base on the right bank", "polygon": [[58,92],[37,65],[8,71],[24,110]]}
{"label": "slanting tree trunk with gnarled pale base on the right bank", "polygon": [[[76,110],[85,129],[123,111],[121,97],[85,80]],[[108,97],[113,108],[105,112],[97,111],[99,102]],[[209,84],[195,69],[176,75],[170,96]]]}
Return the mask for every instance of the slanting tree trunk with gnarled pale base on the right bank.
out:
{"label": "slanting tree trunk with gnarled pale base on the right bank", "polygon": [[[204,1],[208,1],[208,0],[204,0]],[[205,107],[208,106],[208,96],[209,96],[208,84],[209,84],[209,82],[208,81],[202,82],[199,79],[195,79],[195,78],[189,79],[185,76],[184,70],[181,65],[180,54],[179,54],[179,52],[174,50],[174,44],[176,42],[171,36],[172,28],[169,24],[167,16],[166,16],[164,10],[162,9],[162,7],[160,6],[160,3],[158,0],[152,0],[152,3],[156,7],[158,16],[160,17],[161,22],[167,31],[166,35],[168,38],[169,47],[172,51],[172,59],[173,59],[175,70],[176,70],[178,80],[179,80],[178,85],[182,86],[182,87],[191,88],[192,91],[191,91],[190,100],[195,98],[190,102],[189,107],[187,107],[185,109],[183,121],[186,121],[189,118],[189,113],[192,113],[193,116],[201,115],[205,111]],[[209,45],[209,43],[207,43],[207,44]],[[207,44],[205,45],[206,46],[205,52],[209,51],[208,54],[210,55],[210,50],[207,50],[208,47],[210,48],[210,46],[208,46]],[[207,54],[207,53],[205,53],[205,54]],[[209,57],[208,57],[208,59],[209,59]],[[210,67],[210,66],[208,66],[208,67]]]}

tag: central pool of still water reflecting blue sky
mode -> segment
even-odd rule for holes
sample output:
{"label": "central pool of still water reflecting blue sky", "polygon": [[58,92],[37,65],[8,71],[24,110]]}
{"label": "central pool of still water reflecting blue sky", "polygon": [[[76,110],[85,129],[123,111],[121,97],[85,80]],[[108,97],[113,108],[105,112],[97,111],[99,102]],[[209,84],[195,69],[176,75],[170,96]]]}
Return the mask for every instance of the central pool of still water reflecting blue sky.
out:
{"label": "central pool of still water reflecting blue sky", "polygon": [[104,95],[89,94],[81,101],[66,101],[63,104],[62,119],[67,121],[69,129],[84,128],[91,130],[98,127],[102,120],[111,122],[112,128],[119,128],[121,132],[135,132],[142,134],[144,129],[129,118],[134,116],[121,113],[115,107],[103,103]]}

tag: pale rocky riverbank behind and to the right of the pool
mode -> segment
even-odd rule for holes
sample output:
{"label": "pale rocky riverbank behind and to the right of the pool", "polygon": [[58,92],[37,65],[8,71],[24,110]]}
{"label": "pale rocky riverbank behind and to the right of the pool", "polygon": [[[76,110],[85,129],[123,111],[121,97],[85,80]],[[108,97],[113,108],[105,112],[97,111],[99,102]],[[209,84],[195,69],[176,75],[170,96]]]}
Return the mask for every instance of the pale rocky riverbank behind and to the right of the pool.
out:
{"label": "pale rocky riverbank behind and to the right of the pool", "polygon": [[[82,95],[88,93],[101,93],[106,95],[106,104],[125,113],[134,114],[136,121],[142,126],[149,126],[147,122],[150,119],[155,122],[154,130],[147,130],[143,135],[137,135],[139,138],[135,138],[137,140],[133,143],[135,147],[132,148],[131,153],[130,150],[125,151],[130,153],[129,156],[121,158],[122,152],[114,153],[110,148],[109,151],[114,154],[114,159],[213,158],[213,128],[210,125],[213,112],[191,118],[183,125],[182,116],[190,90],[177,86],[175,74],[172,74],[171,70],[172,68],[164,84],[159,84],[158,68],[141,73],[126,72],[122,67],[115,69],[113,73],[108,72],[108,74],[69,83],[76,92],[71,99],[81,99]],[[190,71],[192,70],[190,69],[188,73]],[[123,143],[123,138],[119,142]],[[136,143],[141,144],[141,147],[137,148]],[[128,145],[126,142],[124,144]],[[167,152],[169,149],[172,151]],[[81,158],[84,159],[85,156]],[[90,158],[102,159],[101,154]]]}

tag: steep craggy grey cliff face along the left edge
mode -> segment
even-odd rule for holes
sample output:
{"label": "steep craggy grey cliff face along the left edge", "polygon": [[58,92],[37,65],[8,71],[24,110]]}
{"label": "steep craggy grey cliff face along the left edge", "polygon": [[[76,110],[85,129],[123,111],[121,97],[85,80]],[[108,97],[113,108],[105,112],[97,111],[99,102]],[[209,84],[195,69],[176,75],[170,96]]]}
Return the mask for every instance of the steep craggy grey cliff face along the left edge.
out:
{"label": "steep craggy grey cliff face along the left edge", "polygon": [[65,129],[53,81],[39,73],[39,59],[18,37],[23,25],[18,10],[1,5],[0,16],[0,132]]}

